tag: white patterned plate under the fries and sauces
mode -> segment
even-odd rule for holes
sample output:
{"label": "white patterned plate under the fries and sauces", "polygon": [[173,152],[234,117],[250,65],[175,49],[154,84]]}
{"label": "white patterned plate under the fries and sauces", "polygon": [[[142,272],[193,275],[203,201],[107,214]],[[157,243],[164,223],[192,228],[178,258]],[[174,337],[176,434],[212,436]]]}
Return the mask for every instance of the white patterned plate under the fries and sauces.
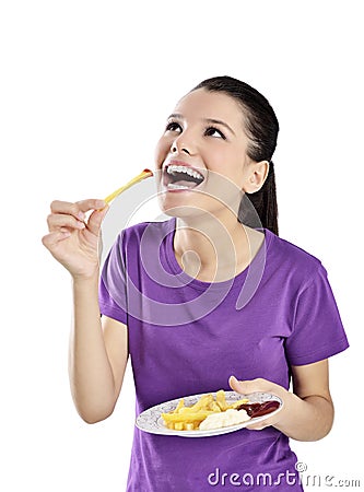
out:
{"label": "white patterned plate under the fries and sauces", "polygon": [[[193,395],[184,397],[185,406],[190,407],[195,405],[206,393],[200,395]],[[215,398],[216,394],[212,393]],[[225,391],[226,402],[228,405],[234,401],[242,400],[243,398],[248,398],[251,403],[262,403],[268,400],[275,400],[280,402],[280,407],[271,413],[267,415],[256,417],[246,422],[243,422],[238,425],[231,425],[228,427],[220,427],[213,429],[210,431],[173,431],[165,426],[162,413],[172,412],[178,405],[180,398],[176,398],[175,400],[165,401],[164,403],[156,405],[145,411],[143,411],[137,419],[136,425],[138,429],[144,432],[149,432],[150,434],[161,434],[161,435],[176,435],[181,437],[209,437],[212,435],[227,434],[228,432],[235,432],[239,429],[246,427],[247,425],[251,425],[256,422],[261,422],[262,420],[268,419],[269,417],[274,415],[282,409],[283,401],[275,395],[271,395],[270,393],[253,393],[251,395],[240,395],[235,391]]]}

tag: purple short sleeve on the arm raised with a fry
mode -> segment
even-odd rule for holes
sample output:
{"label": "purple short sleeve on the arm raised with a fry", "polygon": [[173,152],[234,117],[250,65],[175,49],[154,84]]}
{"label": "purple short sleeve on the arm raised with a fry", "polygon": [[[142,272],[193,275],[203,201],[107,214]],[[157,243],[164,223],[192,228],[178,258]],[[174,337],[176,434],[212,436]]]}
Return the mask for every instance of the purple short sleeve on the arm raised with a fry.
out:
{"label": "purple short sleeve on the arm raised with a fry", "polygon": [[122,234],[114,243],[102,270],[98,304],[102,315],[128,324],[126,261]]}

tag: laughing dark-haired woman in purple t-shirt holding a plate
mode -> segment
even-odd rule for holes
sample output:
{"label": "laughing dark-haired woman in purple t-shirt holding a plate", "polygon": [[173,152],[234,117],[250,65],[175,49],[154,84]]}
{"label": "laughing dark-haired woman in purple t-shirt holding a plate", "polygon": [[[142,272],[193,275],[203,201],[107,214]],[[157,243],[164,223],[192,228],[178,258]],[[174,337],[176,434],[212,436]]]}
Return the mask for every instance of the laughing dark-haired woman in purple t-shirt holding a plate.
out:
{"label": "laughing dark-haired woman in purple t-shirt holding a plate", "polygon": [[278,237],[278,131],[268,101],[238,80],[209,79],[183,97],[155,154],[173,218],[119,235],[99,292],[105,203],[51,204],[43,242],[73,278],[70,378],[86,422],[113,412],[128,354],[137,413],[221,388],[284,402],[263,423],[214,437],[136,429],[129,492],[302,490],[289,438],[331,429],[327,359],[348,341],[320,261]]}

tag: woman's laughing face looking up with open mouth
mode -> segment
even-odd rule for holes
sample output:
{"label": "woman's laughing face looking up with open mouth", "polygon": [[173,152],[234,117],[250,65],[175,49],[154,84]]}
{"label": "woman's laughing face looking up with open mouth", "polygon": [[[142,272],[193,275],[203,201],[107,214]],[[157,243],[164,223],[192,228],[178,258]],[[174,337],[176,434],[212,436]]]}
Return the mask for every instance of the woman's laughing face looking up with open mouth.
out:
{"label": "woman's laughing face looking up with open mouth", "polygon": [[204,89],[187,94],[156,147],[162,210],[179,216],[237,208],[256,164],[247,145],[244,115],[234,98]]}

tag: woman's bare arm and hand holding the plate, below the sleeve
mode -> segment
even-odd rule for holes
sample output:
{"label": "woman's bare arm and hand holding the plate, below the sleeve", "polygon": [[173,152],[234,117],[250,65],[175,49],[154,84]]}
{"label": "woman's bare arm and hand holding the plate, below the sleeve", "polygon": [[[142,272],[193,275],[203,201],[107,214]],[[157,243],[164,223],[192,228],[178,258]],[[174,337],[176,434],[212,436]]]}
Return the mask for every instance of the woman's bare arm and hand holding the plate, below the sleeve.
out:
{"label": "woman's bare arm and hand holding the plate, below the sleeve", "polygon": [[232,376],[230,384],[244,395],[267,391],[283,400],[280,412],[248,429],[261,430],[272,425],[296,441],[318,441],[330,432],[333,421],[328,361],[292,366],[292,375],[293,393],[267,379],[238,382]]}

